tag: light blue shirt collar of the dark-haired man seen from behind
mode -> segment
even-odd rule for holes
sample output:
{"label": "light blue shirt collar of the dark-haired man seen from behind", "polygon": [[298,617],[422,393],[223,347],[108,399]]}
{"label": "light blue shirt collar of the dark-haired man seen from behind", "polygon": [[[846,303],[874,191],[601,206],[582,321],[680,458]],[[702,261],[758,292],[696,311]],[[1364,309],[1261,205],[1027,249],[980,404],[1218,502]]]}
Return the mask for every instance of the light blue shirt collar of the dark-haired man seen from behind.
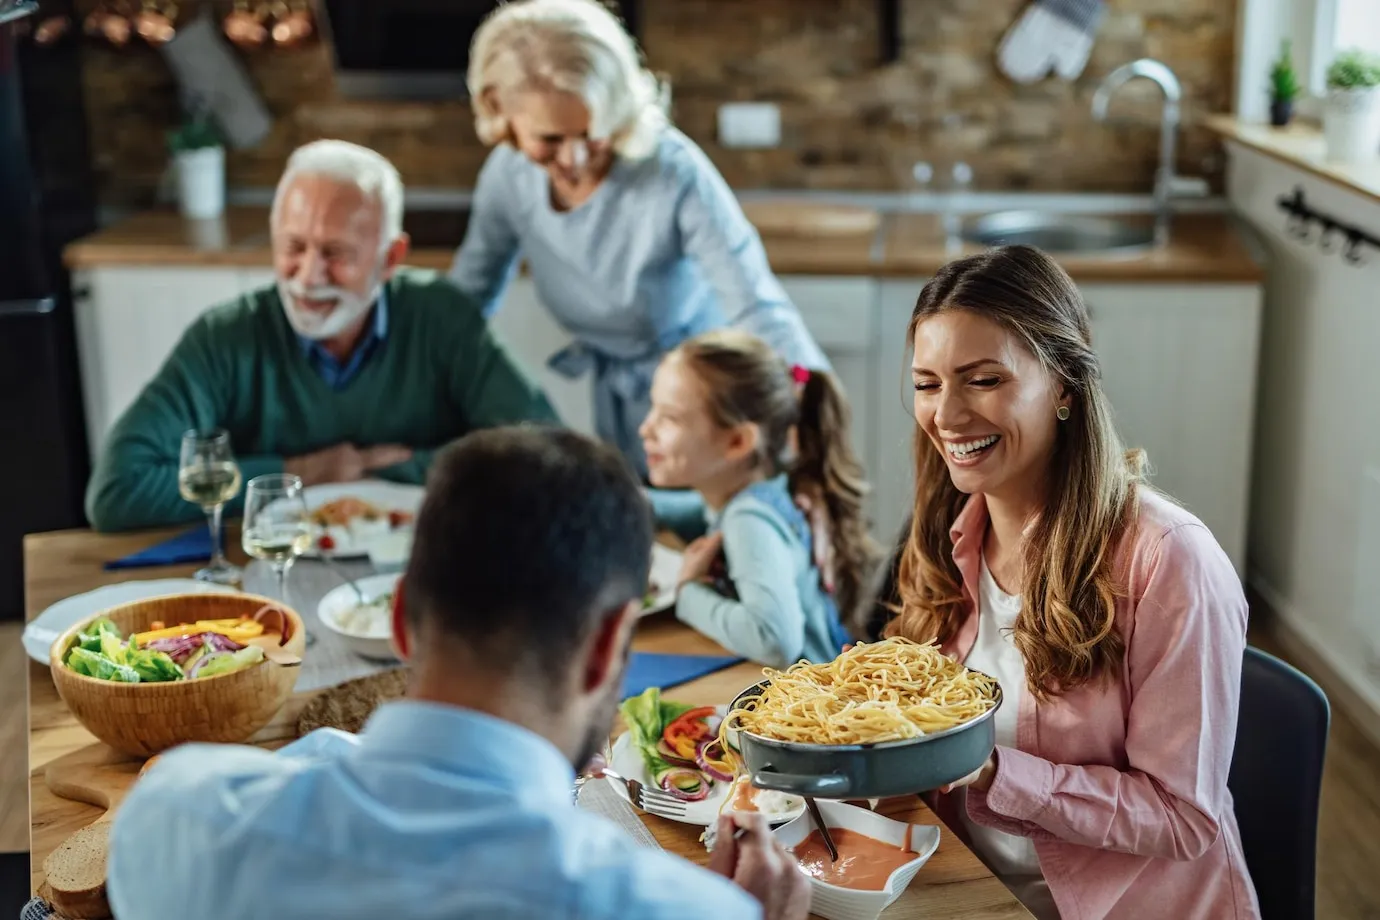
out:
{"label": "light blue shirt collar of the dark-haired man seen from behind", "polygon": [[359,753],[426,763],[567,806],[575,779],[566,756],[541,735],[473,709],[420,699],[379,706],[360,731]]}

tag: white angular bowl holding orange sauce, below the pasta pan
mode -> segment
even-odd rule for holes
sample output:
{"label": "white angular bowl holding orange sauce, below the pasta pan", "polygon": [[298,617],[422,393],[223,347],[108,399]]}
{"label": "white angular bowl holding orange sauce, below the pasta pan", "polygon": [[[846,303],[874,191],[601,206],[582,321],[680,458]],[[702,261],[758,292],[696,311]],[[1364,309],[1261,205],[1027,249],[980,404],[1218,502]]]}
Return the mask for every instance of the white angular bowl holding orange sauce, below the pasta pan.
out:
{"label": "white angular bowl holding orange sauce, below the pasta pan", "polygon": [[[896,844],[897,847],[905,843],[905,834],[909,833],[909,846],[915,851],[914,859],[897,868],[887,877],[886,888],[882,891],[840,888],[828,881],[810,879],[813,894],[810,910],[825,920],[876,920],[883,910],[891,906],[893,901],[901,897],[901,892],[915,879],[915,873],[920,870],[920,866],[940,847],[940,829],[933,825],[907,825],[891,818],[885,818],[867,808],[846,806],[840,801],[817,799],[814,804],[820,806],[824,823],[829,828],[856,830],[883,843]],[[809,837],[813,830],[814,821],[811,821],[810,812],[806,811],[791,823],[781,825],[771,833],[787,847],[793,847]]]}

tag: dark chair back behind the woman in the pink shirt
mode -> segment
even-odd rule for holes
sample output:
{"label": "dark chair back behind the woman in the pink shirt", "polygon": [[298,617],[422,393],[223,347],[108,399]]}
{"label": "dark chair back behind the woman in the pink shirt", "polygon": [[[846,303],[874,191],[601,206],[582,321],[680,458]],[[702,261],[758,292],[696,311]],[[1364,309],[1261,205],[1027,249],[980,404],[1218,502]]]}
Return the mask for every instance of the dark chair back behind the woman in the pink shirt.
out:
{"label": "dark chair back behind the woman in the pink shirt", "polygon": [[1332,709],[1307,674],[1246,647],[1227,786],[1263,920],[1312,920]]}

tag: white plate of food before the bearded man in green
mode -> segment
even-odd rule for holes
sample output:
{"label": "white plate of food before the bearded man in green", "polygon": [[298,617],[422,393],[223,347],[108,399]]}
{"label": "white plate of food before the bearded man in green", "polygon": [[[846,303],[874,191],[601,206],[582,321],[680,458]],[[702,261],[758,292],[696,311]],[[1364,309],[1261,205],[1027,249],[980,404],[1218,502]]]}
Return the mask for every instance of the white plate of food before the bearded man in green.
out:
{"label": "white plate of food before the bearded man in green", "polygon": [[[312,523],[312,545],[305,556],[351,559],[410,545],[413,521],[421,510],[421,486],[364,480],[330,483],[302,490]],[[406,549],[402,556],[406,557]]]}

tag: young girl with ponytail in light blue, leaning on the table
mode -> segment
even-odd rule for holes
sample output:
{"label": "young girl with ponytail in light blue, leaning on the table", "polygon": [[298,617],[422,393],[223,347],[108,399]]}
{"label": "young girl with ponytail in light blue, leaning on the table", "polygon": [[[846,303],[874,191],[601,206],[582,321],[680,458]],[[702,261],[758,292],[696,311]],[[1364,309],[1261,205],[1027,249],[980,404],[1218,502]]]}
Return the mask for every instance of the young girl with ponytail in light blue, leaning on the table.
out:
{"label": "young girl with ponytail in light blue, leaning on the table", "polygon": [[[769,666],[835,658],[850,641],[839,611],[854,608],[875,548],[834,377],[788,366],[747,332],[708,332],[662,360],[639,433],[651,484],[691,488],[705,505],[709,532],[686,549],[676,617]],[[829,572],[796,497],[828,513]]]}

